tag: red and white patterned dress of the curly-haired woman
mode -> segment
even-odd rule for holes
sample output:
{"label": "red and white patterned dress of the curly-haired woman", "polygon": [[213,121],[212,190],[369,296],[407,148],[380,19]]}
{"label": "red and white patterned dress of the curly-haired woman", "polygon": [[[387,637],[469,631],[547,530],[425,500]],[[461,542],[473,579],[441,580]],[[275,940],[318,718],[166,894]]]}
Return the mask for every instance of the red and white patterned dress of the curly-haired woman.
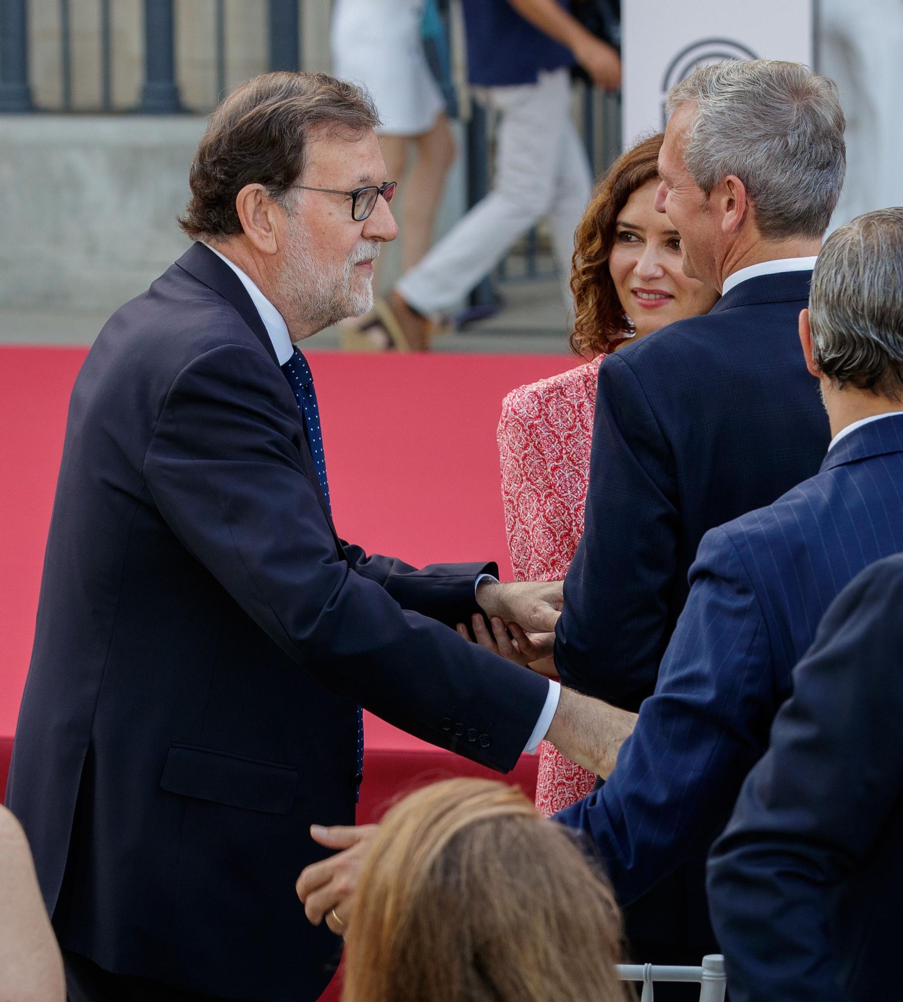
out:
{"label": "red and white patterned dress of the curly-haired woman", "polygon": [[[516,581],[561,580],[574,559],[584,531],[603,358],[513,390],[502,405],[502,496]],[[595,784],[592,773],[543,741],[537,785],[541,814],[569,807]]]}

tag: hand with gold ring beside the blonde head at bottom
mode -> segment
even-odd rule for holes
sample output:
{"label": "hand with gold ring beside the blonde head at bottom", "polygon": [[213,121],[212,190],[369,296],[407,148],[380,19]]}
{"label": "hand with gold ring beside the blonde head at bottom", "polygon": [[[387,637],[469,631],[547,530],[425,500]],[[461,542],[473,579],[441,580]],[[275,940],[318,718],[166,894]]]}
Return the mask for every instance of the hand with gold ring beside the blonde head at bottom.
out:
{"label": "hand with gold ring beside the blonde head at bottom", "polygon": [[304,904],[304,914],[312,925],[318,926],[325,917],[329,929],[336,936],[344,936],[360,868],[375,833],[375,825],[310,826],[310,838],[314,842],[329,849],[343,850],[305,867],[295,883],[295,890]]}

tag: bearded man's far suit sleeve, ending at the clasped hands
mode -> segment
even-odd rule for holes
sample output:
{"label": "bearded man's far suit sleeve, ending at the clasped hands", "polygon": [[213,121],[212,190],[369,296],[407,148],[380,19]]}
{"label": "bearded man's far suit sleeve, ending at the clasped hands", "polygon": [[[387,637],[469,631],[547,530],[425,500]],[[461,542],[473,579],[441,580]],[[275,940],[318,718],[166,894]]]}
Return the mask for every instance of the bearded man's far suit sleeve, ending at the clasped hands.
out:
{"label": "bearded man's far suit sleeve, ending at the clasped hands", "polygon": [[375,581],[402,609],[437,619],[446,626],[468,622],[477,604],[477,578],[481,574],[499,576],[497,563],[428,564],[411,567],[395,557],[367,554],[352,543],[342,542],[351,568]]}

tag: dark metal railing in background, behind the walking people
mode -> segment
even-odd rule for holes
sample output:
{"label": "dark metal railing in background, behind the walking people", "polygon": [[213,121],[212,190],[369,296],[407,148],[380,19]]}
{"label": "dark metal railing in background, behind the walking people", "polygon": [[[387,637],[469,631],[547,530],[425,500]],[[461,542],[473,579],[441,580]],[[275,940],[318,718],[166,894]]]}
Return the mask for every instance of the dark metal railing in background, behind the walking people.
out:
{"label": "dark metal railing in background, behind the walking people", "polygon": [[[267,18],[265,41],[256,43],[262,47],[253,54],[252,65],[248,62],[251,57],[244,54],[238,78],[249,75],[249,68],[251,72],[300,68],[301,3],[254,0],[255,10],[259,8],[260,16]],[[438,6],[446,15],[445,0],[438,0]],[[249,7],[250,0],[239,9],[245,17]],[[126,5],[113,0],[0,0],[0,112],[177,114],[207,112],[215,107],[230,84],[225,0],[190,0],[190,6],[178,5],[176,0],[133,0],[127,9],[132,16],[124,23]],[[231,10],[234,14],[236,8]],[[197,37],[202,39],[205,53],[212,50],[212,60],[204,56],[204,74],[195,74],[191,86],[185,77],[186,59],[194,55],[192,41],[185,37],[185,17],[177,17],[186,11],[196,19],[203,13],[203,28]],[[47,30],[49,25],[54,30]],[[235,28],[232,30],[234,33]],[[123,52],[126,47],[128,51]],[[40,71],[32,80],[34,61],[40,63]],[[128,85],[121,79],[123,66],[130,74]],[[48,73],[58,80],[56,97],[47,84]],[[231,82],[235,76],[233,68]],[[620,152],[620,97],[585,84],[577,86],[583,91],[577,117],[598,176]],[[495,126],[480,104],[475,102],[472,107],[466,141],[469,205],[479,201],[491,186]],[[531,229],[473,293],[472,312],[480,315],[494,310],[499,282],[533,282],[554,275],[545,231]]]}

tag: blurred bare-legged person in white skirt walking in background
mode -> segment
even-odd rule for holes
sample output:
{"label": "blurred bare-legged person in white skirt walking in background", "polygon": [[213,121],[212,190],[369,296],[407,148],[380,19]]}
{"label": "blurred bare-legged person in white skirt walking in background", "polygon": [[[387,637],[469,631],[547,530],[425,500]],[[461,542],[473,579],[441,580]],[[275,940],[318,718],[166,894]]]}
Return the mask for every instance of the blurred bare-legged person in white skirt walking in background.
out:
{"label": "blurred bare-legged person in white skirt walking in background", "polygon": [[[421,37],[427,4],[434,14],[434,0],[336,0],[332,16],[333,72],[369,90],[382,120],[376,132],[386,174],[403,184],[404,272],[429,248],[445,175],[455,161],[445,98],[428,65]],[[414,158],[408,169],[410,152]],[[373,290],[378,296],[377,264],[378,260],[373,263]],[[358,351],[387,347],[385,331],[373,325],[374,317],[382,312],[377,300],[375,313],[344,321],[342,345]]]}

